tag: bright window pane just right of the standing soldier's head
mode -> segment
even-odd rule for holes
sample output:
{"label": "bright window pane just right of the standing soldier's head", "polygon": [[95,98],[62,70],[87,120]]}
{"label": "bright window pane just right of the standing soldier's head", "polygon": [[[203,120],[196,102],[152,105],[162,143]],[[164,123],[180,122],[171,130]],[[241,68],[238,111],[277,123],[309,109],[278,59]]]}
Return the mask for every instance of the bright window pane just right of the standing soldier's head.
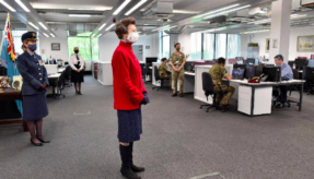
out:
{"label": "bright window pane just right of the standing soldier's head", "polygon": [[191,33],[190,35],[190,59],[201,59],[201,33]]}

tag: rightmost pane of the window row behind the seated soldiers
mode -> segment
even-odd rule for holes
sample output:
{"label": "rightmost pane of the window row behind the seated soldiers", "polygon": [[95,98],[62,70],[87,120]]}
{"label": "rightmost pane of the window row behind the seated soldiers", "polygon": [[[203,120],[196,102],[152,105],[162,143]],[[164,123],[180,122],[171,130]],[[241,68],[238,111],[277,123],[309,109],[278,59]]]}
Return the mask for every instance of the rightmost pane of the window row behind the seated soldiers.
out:
{"label": "rightmost pane of the window row behind the seated soldiers", "polygon": [[228,59],[240,57],[241,53],[241,36],[239,34],[228,34]]}

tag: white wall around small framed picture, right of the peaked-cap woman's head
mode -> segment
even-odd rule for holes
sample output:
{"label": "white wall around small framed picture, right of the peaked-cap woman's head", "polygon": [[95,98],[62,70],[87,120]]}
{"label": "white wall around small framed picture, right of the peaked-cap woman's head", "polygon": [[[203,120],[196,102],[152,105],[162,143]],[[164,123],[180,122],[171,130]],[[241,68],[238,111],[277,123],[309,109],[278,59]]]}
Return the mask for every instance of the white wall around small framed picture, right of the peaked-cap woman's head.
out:
{"label": "white wall around small framed picture, right of the peaked-cap woman's head", "polygon": [[[69,60],[68,55],[68,34],[66,29],[57,29],[55,31],[57,37],[45,37],[43,35],[39,36],[39,50],[37,52],[42,56],[44,60],[47,58],[61,59],[63,61]],[[51,43],[60,43],[60,50],[51,50]],[[44,52],[43,52],[44,50]],[[46,59],[45,59],[46,57]]]}

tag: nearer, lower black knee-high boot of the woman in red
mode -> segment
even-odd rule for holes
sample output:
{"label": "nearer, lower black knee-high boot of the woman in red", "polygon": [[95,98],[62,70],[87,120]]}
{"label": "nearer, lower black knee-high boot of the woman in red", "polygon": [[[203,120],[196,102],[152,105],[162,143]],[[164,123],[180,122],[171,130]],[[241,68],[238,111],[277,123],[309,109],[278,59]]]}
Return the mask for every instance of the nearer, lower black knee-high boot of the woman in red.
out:
{"label": "nearer, lower black knee-high boot of the woman in red", "polygon": [[119,148],[120,148],[120,156],[123,160],[123,166],[120,169],[120,172],[123,174],[123,176],[125,176],[128,179],[140,179],[140,177],[131,170],[131,164],[130,164],[130,153],[131,153],[130,148],[131,147],[130,145],[124,146],[120,144]]}

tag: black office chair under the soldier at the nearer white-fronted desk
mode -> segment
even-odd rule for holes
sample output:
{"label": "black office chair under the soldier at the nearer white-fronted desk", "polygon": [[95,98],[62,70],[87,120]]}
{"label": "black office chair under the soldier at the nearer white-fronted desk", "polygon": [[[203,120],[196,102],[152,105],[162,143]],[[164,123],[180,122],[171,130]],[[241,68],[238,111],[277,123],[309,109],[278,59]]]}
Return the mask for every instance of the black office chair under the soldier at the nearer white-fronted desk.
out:
{"label": "black office chair under the soldier at the nearer white-fronted desk", "polygon": [[[211,75],[208,72],[203,72],[201,74],[201,81],[202,81],[202,90],[205,92],[205,96],[208,100],[208,96],[210,95],[212,97],[212,104],[211,105],[200,105],[199,108],[202,109],[203,106],[207,106],[208,108],[207,108],[206,112],[208,112],[211,107],[216,107],[217,109],[224,112],[224,110],[219,106],[219,104],[216,103],[216,99],[217,99],[218,94],[225,95],[228,93],[229,85],[228,85],[228,88],[225,91],[214,91]],[[219,87],[220,87],[220,85],[219,85]]]}

